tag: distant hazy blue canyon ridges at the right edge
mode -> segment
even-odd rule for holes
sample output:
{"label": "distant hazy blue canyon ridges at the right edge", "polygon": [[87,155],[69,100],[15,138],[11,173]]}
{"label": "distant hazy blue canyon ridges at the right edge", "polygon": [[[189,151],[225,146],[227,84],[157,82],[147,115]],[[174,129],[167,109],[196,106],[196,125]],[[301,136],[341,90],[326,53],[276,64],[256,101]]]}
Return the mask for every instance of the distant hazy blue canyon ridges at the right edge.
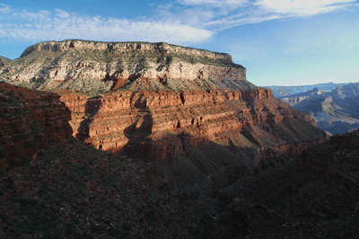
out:
{"label": "distant hazy blue canyon ridges at the right edge", "polygon": [[[330,135],[335,135],[359,128],[359,114],[356,110],[359,103],[358,85],[358,83],[328,83],[301,87],[272,86],[272,88],[288,93],[285,96],[277,95],[278,100],[287,102],[297,110],[313,113],[317,127]],[[302,92],[290,93],[290,90]]]}

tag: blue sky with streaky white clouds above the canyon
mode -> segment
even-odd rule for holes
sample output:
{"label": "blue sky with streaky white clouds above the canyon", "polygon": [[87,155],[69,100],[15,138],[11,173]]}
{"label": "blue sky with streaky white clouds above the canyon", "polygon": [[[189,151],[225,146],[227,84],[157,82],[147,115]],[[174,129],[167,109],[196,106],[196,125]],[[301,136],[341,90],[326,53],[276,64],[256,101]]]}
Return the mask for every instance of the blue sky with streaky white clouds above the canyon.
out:
{"label": "blue sky with streaky white clouds above the canyon", "polygon": [[258,86],[359,82],[353,0],[0,0],[0,56],[68,39],[226,52]]}

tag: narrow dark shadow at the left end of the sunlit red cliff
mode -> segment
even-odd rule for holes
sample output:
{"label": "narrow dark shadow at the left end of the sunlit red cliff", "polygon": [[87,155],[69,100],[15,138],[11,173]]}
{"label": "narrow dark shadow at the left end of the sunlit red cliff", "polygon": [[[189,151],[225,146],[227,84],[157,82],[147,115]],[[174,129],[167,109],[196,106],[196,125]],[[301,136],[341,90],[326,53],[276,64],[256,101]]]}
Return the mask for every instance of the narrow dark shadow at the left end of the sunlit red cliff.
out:
{"label": "narrow dark shadow at the left end of the sunlit red cliff", "polygon": [[90,124],[93,121],[93,118],[101,109],[101,96],[92,97],[87,99],[87,102],[84,105],[85,117],[80,123],[78,132],[75,135],[76,139],[84,141],[86,138],[90,137]]}

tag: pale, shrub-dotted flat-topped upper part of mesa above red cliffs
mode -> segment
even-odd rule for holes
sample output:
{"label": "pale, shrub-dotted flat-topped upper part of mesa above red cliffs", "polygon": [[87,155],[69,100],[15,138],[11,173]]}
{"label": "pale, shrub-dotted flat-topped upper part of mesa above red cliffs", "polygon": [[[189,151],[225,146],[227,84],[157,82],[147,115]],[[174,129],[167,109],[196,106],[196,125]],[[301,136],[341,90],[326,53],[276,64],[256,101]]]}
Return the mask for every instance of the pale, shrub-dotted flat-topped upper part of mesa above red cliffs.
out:
{"label": "pale, shrub-dotted flat-topped upper part of mesa above red cliffs", "polygon": [[226,53],[167,43],[41,42],[0,73],[0,80],[31,89],[92,96],[116,90],[249,90],[246,69]]}

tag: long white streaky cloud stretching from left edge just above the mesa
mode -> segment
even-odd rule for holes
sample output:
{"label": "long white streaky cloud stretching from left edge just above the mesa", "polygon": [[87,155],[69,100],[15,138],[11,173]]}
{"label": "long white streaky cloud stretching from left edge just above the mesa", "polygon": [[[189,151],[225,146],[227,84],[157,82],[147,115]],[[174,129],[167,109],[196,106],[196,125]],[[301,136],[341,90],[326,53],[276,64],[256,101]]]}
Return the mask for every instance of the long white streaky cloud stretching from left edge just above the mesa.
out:
{"label": "long white streaky cloud stretching from left edge just above the mesa", "polygon": [[0,5],[5,21],[0,25],[0,38],[14,40],[103,40],[103,41],[166,41],[181,44],[208,40],[213,31],[176,21],[132,21],[102,16],[81,15],[56,9],[18,11]]}

